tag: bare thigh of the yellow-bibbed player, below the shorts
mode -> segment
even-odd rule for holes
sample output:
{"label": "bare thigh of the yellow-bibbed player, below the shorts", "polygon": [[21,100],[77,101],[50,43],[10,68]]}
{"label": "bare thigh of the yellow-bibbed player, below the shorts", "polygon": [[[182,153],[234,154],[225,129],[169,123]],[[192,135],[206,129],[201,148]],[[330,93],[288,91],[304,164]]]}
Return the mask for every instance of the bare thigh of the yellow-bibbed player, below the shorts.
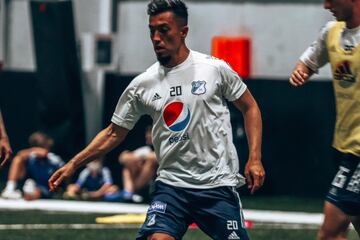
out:
{"label": "bare thigh of the yellow-bibbed player, below the shorts", "polygon": [[350,220],[338,207],[325,201],[324,221],[319,229],[318,240],[346,240]]}

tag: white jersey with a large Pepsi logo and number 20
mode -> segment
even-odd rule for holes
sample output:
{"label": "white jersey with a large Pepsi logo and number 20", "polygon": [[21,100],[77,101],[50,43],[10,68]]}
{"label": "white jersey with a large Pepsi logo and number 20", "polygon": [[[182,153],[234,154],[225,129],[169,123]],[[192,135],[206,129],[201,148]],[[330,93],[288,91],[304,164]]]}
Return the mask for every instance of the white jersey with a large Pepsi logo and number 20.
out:
{"label": "white jersey with a large Pepsi logo and number 20", "polygon": [[123,92],[112,122],[132,129],[143,114],[153,119],[157,179],[185,188],[240,186],[230,112],[246,85],[224,61],[190,51],[178,66],[155,63]]}

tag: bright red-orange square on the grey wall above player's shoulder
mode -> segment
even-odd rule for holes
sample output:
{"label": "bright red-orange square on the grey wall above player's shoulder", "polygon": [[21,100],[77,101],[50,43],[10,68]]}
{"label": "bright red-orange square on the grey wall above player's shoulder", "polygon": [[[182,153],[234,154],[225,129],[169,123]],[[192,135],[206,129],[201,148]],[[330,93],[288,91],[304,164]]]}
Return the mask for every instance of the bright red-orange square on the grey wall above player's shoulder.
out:
{"label": "bright red-orange square on the grey wall above player's shoulder", "polygon": [[241,77],[250,77],[250,38],[216,36],[212,39],[212,55],[229,63]]}

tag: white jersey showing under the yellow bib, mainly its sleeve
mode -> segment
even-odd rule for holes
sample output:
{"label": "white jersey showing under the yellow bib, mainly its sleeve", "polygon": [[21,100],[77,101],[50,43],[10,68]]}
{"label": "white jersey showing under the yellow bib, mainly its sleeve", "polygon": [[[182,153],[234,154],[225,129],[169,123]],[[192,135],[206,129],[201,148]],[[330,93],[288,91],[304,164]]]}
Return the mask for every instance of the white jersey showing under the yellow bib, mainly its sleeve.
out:
{"label": "white jersey showing under the yellow bib, mainly its sleeve", "polygon": [[[301,55],[300,60],[311,70],[318,72],[318,69],[329,62],[328,51],[326,47],[326,38],[329,29],[336,22],[330,21],[320,31],[320,35],[311,46]],[[350,50],[360,44],[360,26],[357,28],[345,28],[341,33],[341,46],[345,50]]]}

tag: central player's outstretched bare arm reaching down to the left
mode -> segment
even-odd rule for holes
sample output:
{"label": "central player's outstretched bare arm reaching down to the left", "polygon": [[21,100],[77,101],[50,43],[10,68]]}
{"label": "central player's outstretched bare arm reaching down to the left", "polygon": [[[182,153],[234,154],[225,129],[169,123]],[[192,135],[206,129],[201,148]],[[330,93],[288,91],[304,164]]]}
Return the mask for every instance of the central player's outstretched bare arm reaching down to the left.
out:
{"label": "central player's outstretched bare arm reaching down to the left", "polygon": [[99,132],[84,150],[50,177],[50,190],[54,191],[61,182],[70,178],[80,166],[111,151],[125,139],[128,132],[129,130],[111,123],[107,128]]}

